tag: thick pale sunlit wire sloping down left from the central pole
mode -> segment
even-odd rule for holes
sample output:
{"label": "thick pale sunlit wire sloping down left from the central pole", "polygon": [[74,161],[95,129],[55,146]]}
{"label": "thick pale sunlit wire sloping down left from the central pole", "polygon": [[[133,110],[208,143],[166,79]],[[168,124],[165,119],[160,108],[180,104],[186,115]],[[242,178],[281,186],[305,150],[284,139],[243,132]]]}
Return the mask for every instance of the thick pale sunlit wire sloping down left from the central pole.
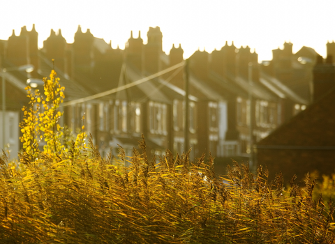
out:
{"label": "thick pale sunlit wire sloping down left from the central pole", "polygon": [[131,88],[131,87],[133,87],[133,86],[137,86],[138,84],[142,84],[142,83],[144,83],[144,82],[147,82],[147,81],[149,81],[150,79],[154,79],[154,78],[156,78],[156,77],[158,77],[158,76],[161,76],[161,75],[164,75],[164,74],[166,74],[166,73],[169,73],[169,72],[172,71],[172,70],[175,70],[175,69],[177,69],[177,68],[179,68],[179,67],[181,67],[181,66],[184,66],[184,63],[185,63],[185,61],[182,61],[181,63],[177,63],[176,65],[174,65],[174,66],[172,66],[172,67],[170,67],[170,68],[167,68],[167,69],[165,69],[165,70],[161,70],[160,72],[158,72],[158,73],[156,73],[156,74],[154,74],[154,75],[149,75],[148,77],[144,77],[144,78],[142,78],[142,79],[138,79],[138,80],[135,81],[135,82],[132,82],[132,83],[130,83],[130,84],[126,84],[126,85],[124,85],[124,86],[119,86],[119,87],[114,88],[114,89],[111,89],[111,90],[109,90],[109,91],[104,91],[104,92],[102,92],[102,93],[97,93],[97,94],[95,94],[95,95],[88,96],[88,97],[86,97],[86,98],[80,98],[80,99],[77,99],[77,100],[72,100],[72,101],[69,101],[69,102],[64,102],[62,106],[63,106],[63,107],[66,107],[66,106],[69,106],[69,105],[75,105],[75,104],[77,104],[77,103],[87,102],[87,101],[89,101],[89,100],[94,100],[94,99],[96,99],[96,98],[102,98],[103,96],[107,96],[107,95],[110,95],[110,94],[112,94],[112,93],[117,93],[118,91],[123,91],[123,90],[128,89],[128,88]]}

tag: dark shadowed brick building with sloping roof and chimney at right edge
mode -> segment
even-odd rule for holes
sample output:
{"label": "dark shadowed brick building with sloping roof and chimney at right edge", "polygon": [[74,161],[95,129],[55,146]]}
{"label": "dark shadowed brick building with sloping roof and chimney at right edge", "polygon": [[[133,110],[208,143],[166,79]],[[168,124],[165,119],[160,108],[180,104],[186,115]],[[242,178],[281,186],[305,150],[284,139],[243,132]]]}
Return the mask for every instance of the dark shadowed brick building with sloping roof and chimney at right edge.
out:
{"label": "dark shadowed brick building with sloping roof and chimney at right edge", "polygon": [[286,181],[299,180],[309,171],[334,173],[335,158],[335,67],[331,56],[318,56],[313,68],[313,104],[257,144],[259,165],[270,178],[279,171]]}

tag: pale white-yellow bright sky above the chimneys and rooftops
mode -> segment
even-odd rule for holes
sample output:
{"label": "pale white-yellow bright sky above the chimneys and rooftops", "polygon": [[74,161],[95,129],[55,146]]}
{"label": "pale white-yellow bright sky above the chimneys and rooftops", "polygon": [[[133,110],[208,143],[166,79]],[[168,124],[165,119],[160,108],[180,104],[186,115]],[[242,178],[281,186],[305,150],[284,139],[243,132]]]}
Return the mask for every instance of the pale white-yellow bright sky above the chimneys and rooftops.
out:
{"label": "pale white-yellow bright sky above the chimneys and rooftops", "polygon": [[184,49],[184,58],[200,48],[212,52],[225,41],[236,47],[248,45],[259,54],[259,61],[272,59],[272,49],[285,41],[293,52],[313,47],[326,56],[327,40],[335,40],[334,0],[11,0],[1,3],[0,39],[7,40],[15,29],[30,30],[36,24],[38,46],[50,36],[50,29],[61,29],[73,43],[77,26],[94,36],[112,40],[112,47],[124,45],[133,30],[140,30],[147,42],[149,26],[160,26],[163,50],[172,44]]}

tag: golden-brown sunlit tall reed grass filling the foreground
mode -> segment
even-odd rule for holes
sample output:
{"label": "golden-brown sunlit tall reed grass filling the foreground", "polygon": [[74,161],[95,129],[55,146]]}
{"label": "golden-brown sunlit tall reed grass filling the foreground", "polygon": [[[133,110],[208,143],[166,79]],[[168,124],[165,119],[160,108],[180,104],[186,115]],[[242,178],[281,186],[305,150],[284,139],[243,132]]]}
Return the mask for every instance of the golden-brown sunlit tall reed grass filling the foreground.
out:
{"label": "golden-brown sunlit tall reed grass filling the foreground", "polygon": [[211,157],[166,151],[157,164],[144,139],[140,151],[103,159],[89,139],[57,160],[23,152],[20,167],[3,154],[0,243],[334,243],[334,205],[312,198],[308,177],[285,191],[262,167],[235,162],[222,178]]}

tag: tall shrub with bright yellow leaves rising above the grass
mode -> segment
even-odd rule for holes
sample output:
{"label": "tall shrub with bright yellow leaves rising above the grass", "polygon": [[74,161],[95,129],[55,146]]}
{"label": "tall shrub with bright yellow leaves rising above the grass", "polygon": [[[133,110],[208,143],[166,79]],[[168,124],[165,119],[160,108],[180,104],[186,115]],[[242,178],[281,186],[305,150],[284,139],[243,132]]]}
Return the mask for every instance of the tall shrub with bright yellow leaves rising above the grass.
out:
{"label": "tall shrub with bright yellow leaves rising above the grass", "polygon": [[[62,151],[68,151],[63,142],[64,128],[59,125],[59,120],[63,112],[59,111],[59,106],[64,101],[64,86],[59,84],[57,73],[52,70],[49,79],[43,78],[44,93],[40,94],[38,89],[31,90],[26,87],[29,98],[29,108],[23,107],[24,118],[20,123],[23,149],[34,161],[40,153],[40,142],[44,140],[43,153],[57,160],[57,155]],[[75,139],[75,151],[79,152],[84,146],[86,133],[84,126],[82,132]]]}

